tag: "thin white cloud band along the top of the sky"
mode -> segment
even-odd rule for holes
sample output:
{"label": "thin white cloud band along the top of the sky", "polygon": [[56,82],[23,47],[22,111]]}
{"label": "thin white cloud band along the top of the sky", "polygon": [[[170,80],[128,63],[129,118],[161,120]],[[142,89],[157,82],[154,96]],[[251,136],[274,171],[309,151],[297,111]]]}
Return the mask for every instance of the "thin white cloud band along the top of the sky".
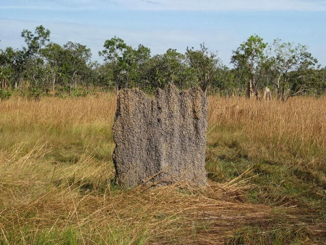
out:
{"label": "thin white cloud band along the top of the sky", "polygon": [[2,9],[112,9],[184,11],[326,11],[321,0],[3,0]]}

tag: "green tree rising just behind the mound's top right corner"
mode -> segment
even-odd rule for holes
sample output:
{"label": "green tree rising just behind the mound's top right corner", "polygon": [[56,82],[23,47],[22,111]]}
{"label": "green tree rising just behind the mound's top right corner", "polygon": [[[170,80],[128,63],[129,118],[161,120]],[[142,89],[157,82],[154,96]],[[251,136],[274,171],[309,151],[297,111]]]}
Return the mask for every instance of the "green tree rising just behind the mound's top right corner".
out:
{"label": "green tree rising just behind the mound's top right corner", "polygon": [[221,62],[220,59],[217,57],[217,54],[209,52],[204,43],[200,44],[200,50],[194,50],[194,47],[187,47],[185,56],[206,95],[208,86],[214,81],[216,67]]}

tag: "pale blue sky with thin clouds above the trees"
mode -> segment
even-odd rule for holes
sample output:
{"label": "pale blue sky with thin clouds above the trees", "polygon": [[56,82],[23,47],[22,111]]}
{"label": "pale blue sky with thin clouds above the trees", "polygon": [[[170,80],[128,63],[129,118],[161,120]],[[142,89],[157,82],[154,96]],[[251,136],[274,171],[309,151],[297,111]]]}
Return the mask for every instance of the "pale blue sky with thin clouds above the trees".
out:
{"label": "pale blue sky with thin clouds above the trees", "polygon": [[20,33],[42,24],[53,42],[79,42],[93,60],[106,39],[143,44],[152,55],[205,42],[230,65],[250,35],[306,44],[326,65],[326,0],[0,0],[0,48],[24,45]]}

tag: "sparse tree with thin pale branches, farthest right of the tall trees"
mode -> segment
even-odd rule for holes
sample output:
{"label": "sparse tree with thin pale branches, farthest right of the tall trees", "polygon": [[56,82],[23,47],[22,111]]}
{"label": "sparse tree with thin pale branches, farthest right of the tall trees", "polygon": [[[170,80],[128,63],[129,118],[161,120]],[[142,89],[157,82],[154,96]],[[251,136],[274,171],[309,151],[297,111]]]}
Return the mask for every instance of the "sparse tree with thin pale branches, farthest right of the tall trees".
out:
{"label": "sparse tree with thin pale branches, farthest right of the tall trees", "polygon": [[293,42],[281,42],[281,39],[275,39],[273,46],[276,69],[279,71],[278,96],[285,101],[286,89],[290,90],[288,97],[291,97],[309,88],[309,80],[302,80],[302,78],[308,75],[317,63],[317,59],[307,51],[306,45],[294,45]]}

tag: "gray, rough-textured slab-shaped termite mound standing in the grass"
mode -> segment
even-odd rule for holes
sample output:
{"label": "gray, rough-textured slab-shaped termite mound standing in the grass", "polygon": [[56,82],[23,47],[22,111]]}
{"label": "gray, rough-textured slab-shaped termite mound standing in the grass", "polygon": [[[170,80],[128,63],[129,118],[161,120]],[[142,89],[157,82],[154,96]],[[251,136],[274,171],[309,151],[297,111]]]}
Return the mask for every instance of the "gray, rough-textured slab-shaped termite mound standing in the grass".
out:
{"label": "gray, rough-textured slab-shaped termite mound standing in the grass", "polygon": [[205,185],[206,130],[207,98],[198,87],[179,91],[170,84],[154,99],[121,90],[113,126],[117,183]]}

